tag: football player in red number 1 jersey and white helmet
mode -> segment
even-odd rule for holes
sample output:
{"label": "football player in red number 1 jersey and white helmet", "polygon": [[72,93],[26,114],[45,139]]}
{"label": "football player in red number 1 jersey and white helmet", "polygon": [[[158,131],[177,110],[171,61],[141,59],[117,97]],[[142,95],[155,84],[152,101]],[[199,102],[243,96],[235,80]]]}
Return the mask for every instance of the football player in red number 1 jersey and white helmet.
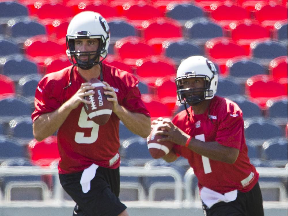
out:
{"label": "football player in red number 1 jersey and white helmet", "polygon": [[259,174],[247,156],[242,111],[215,96],[215,65],[203,56],[191,56],[179,65],[175,82],[185,110],[172,121],[158,118],[165,130],[157,134],[167,136],[158,141],[175,143],[163,159],[187,158],[198,178],[204,215],[264,215]]}

